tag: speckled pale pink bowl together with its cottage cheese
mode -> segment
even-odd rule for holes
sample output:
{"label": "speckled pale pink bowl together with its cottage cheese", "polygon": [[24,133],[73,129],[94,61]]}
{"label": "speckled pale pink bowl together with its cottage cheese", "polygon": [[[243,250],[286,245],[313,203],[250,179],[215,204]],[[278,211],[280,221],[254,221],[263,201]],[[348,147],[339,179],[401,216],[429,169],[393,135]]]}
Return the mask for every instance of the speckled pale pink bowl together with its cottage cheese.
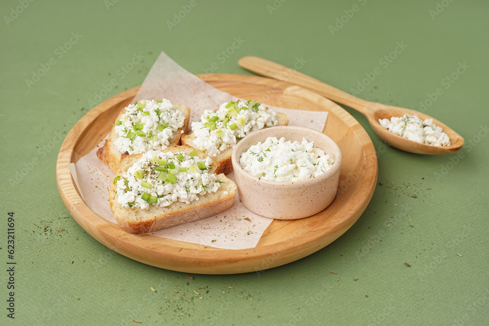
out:
{"label": "speckled pale pink bowl together with its cottage cheese", "polygon": [[309,217],[336,196],[341,150],[322,132],[281,126],[244,137],[231,158],[240,201],[275,219]]}

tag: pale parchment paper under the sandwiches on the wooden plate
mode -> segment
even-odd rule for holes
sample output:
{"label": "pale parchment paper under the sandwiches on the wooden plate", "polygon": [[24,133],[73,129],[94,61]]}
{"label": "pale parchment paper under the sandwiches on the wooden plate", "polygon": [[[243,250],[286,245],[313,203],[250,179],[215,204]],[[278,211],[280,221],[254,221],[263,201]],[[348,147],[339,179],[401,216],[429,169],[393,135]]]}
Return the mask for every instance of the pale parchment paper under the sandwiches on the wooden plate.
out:
{"label": "pale parchment paper under the sandwiches on the wooden plate", "polygon": [[[165,53],[153,65],[136,94],[134,102],[142,99],[167,98],[172,103],[190,108],[190,123],[200,119],[204,109],[218,109],[224,102],[236,99],[222,92],[200,78],[186,71]],[[248,99],[245,99],[248,100]],[[265,103],[266,104],[266,103]],[[276,108],[288,115],[289,125],[309,127],[322,131],[328,112],[315,112]],[[99,147],[103,145],[100,143]],[[87,206],[101,217],[117,223],[109,205],[109,189],[115,175],[95,155],[98,147],[82,157],[77,163],[70,163],[73,179]],[[234,181],[234,173],[227,174]],[[236,194],[234,205],[227,211],[200,221],[178,225],[151,233],[157,237],[200,243],[224,249],[246,249],[256,246],[272,219],[250,212],[239,201]]]}

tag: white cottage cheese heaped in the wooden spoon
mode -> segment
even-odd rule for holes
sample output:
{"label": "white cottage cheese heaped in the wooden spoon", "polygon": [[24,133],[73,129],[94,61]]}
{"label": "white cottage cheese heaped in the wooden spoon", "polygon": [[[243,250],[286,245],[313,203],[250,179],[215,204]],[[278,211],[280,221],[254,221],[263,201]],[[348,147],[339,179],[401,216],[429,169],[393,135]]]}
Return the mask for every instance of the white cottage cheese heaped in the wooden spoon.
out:
{"label": "white cottage cheese heaped in the wooden spoon", "polygon": [[423,121],[416,115],[406,113],[402,117],[379,119],[378,122],[385,129],[409,140],[427,145],[450,146],[448,135],[433,123],[433,119]]}

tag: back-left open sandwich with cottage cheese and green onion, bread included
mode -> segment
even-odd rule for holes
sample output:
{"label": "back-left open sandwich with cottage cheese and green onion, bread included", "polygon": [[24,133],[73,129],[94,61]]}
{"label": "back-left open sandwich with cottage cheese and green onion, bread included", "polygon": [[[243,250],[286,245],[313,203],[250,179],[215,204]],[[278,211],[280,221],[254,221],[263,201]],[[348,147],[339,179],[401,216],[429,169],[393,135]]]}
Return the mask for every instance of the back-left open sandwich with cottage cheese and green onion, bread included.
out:
{"label": "back-left open sandwich with cottage cheese and green onion, bread included", "polygon": [[135,155],[179,145],[189,118],[189,108],[166,99],[131,104],[119,113],[97,156],[115,173],[123,153]]}

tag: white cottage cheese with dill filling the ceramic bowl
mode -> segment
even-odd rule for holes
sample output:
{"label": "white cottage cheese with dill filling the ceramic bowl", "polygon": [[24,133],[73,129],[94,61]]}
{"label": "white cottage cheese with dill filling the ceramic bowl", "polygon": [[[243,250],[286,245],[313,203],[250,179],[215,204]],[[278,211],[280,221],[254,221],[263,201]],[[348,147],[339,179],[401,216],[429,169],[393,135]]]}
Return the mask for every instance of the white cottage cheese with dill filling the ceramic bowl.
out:
{"label": "white cottage cheese with dill filling the ceramic bowl", "polygon": [[240,156],[247,173],[271,181],[299,181],[328,171],[334,161],[306,138],[291,142],[284,137],[268,137]]}

